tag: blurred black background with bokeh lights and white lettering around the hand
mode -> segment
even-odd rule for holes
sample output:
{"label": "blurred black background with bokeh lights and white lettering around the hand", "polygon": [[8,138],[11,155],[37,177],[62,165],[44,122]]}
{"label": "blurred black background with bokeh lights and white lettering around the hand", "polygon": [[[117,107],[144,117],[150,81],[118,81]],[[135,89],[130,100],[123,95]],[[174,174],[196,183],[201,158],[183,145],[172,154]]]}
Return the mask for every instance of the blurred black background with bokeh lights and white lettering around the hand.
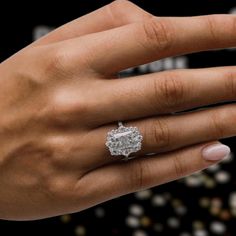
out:
{"label": "blurred black background with bokeh lights and white lettering around the hand", "polygon": [[[111,1],[4,1],[1,3],[0,60],[68,21]],[[236,14],[235,0],[143,0],[137,5],[158,16]],[[236,33],[236,32],[235,32]],[[236,50],[167,58],[123,71],[124,76],[176,68],[235,65]],[[225,121],[227,122],[227,120]],[[211,236],[236,235],[235,138],[222,164],[163,186],[120,197],[85,210],[32,222],[0,221],[0,235]],[[24,209],[22,208],[22,211]]]}

